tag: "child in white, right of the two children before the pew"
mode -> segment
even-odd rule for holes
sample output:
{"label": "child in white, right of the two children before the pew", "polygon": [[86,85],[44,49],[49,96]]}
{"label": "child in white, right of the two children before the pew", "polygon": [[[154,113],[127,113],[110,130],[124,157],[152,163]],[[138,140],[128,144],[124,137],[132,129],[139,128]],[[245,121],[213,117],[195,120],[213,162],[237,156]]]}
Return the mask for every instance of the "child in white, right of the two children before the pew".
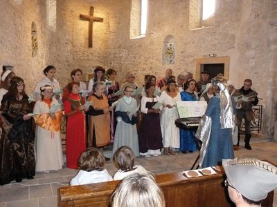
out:
{"label": "child in white, right of the two children before the pew", "polygon": [[114,152],[114,161],[118,164],[120,170],[114,174],[114,180],[123,179],[134,173],[148,174],[142,166],[134,166],[134,158],[136,155],[128,146],[122,146]]}

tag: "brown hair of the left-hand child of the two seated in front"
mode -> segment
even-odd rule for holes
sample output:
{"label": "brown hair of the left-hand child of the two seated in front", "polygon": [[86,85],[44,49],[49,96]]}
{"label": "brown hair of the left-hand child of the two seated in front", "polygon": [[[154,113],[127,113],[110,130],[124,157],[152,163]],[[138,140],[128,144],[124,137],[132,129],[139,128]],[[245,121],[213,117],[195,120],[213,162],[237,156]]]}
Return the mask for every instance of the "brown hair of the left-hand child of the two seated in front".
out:
{"label": "brown hair of the left-hand child of the two seated in front", "polygon": [[80,170],[91,172],[102,171],[105,166],[105,158],[97,148],[87,148],[82,152],[78,160]]}

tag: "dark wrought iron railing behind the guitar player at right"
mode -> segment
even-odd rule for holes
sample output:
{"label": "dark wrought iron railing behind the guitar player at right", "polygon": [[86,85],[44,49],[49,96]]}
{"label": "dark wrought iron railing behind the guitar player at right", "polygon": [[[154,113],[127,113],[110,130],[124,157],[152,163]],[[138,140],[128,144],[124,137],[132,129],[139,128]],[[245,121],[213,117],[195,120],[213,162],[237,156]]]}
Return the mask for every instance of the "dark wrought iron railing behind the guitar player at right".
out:
{"label": "dark wrought iron railing behind the guitar player at right", "polygon": [[[262,130],[262,106],[257,105],[252,107],[254,117],[251,121],[251,131],[258,131]],[[241,132],[245,131],[245,124],[244,119],[242,119],[242,128]]]}

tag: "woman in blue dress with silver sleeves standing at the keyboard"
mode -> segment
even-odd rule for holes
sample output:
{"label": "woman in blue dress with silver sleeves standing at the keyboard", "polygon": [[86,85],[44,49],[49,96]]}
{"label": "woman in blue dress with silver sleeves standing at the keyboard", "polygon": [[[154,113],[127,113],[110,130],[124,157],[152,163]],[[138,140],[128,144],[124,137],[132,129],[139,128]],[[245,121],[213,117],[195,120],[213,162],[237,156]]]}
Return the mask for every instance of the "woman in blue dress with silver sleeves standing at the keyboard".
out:
{"label": "woman in blue dress with silver sleeves standing at the keyboard", "polygon": [[226,78],[217,75],[212,83],[217,86],[217,91],[215,97],[211,97],[208,102],[196,135],[202,141],[199,160],[201,168],[221,165],[222,159],[234,158],[232,131],[235,106],[226,88]]}

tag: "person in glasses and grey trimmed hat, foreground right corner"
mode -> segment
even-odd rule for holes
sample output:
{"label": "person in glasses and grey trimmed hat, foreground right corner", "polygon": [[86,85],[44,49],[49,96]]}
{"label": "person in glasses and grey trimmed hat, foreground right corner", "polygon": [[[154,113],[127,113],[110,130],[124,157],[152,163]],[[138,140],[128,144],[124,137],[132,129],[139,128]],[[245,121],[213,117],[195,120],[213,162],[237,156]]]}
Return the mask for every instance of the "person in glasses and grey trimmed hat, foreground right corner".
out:
{"label": "person in glasses and grey trimmed hat, foreground right corner", "polygon": [[277,188],[277,168],[258,159],[222,159],[231,201],[237,207],[261,206],[267,193]]}

